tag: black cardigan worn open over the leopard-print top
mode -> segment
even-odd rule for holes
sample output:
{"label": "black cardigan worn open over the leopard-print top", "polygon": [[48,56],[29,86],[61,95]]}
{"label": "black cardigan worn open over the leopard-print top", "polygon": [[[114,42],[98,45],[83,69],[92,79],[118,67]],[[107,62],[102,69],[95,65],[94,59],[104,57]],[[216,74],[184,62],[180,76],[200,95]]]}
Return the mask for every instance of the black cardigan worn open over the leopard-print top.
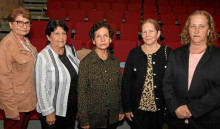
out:
{"label": "black cardigan worn open over the leopard-print top", "polygon": [[[164,110],[165,102],[162,93],[162,79],[171,48],[161,45],[152,56],[154,94],[157,110]],[[125,64],[122,79],[122,103],[125,112],[135,112],[140,104],[147,72],[147,56],[138,46],[130,51]]]}

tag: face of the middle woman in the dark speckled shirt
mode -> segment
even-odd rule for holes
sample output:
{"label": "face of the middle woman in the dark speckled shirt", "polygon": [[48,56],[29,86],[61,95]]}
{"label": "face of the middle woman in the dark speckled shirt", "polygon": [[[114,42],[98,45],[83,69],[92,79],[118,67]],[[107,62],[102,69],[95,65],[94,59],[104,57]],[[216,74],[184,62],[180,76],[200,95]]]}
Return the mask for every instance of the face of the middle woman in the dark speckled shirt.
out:
{"label": "face of the middle woman in the dark speckled shirt", "polygon": [[112,39],[109,36],[109,31],[107,28],[102,27],[95,32],[95,37],[92,40],[93,44],[96,45],[96,49],[106,50]]}

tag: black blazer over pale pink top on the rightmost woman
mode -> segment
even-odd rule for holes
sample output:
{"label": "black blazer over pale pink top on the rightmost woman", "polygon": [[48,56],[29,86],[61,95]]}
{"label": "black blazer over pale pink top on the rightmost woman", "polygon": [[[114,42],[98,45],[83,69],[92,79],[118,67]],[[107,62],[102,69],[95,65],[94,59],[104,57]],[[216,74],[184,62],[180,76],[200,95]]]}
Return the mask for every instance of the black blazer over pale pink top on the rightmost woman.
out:
{"label": "black blazer over pale pink top on the rightmost woman", "polygon": [[189,45],[170,54],[163,80],[163,92],[171,123],[175,129],[184,129],[184,119],[175,116],[175,110],[187,104],[195,129],[220,129],[220,49],[208,46],[201,57],[188,91]]}

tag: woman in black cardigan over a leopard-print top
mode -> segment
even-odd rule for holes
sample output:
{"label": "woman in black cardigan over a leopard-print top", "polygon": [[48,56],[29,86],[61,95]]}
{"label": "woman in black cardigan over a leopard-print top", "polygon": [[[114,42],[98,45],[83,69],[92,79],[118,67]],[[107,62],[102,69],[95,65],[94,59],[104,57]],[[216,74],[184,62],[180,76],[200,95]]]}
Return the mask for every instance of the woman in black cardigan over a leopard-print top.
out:
{"label": "woman in black cardigan over a leopard-print top", "polygon": [[123,108],[134,129],[162,129],[166,107],[162,79],[171,48],[157,42],[157,21],[147,19],[141,29],[144,44],[130,51],[125,65]]}

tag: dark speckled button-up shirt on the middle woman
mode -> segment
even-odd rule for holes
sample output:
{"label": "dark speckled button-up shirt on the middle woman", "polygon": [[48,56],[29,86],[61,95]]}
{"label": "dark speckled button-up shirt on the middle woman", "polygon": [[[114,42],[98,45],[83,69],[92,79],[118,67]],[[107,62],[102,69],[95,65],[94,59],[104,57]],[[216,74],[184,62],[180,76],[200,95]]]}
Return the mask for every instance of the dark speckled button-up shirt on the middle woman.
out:
{"label": "dark speckled button-up shirt on the middle woman", "polygon": [[119,113],[123,114],[121,70],[118,59],[110,51],[107,60],[103,61],[94,49],[79,66],[77,89],[79,124],[89,125],[90,128],[106,128],[108,108],[110,108],[109,124],[118,121]]}

